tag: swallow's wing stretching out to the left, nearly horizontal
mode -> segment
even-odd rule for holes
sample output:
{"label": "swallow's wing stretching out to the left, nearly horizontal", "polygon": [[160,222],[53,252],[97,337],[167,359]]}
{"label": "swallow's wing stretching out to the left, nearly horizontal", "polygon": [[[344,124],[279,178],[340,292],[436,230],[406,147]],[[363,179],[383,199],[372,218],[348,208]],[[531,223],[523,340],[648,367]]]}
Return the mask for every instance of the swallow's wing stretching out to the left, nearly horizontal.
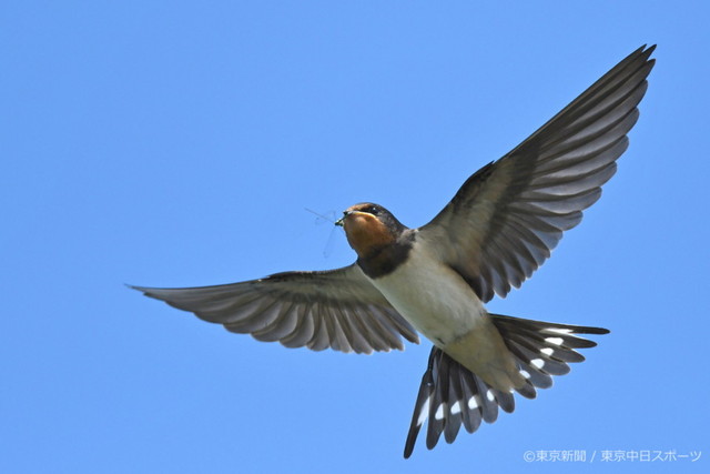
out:
{"label": "swallow's wing stretching out to the left, nearly horizontal", "polygon": [[216,286],[131,286],[229,331],[287,347],[372,353],[418,343],[412,325],[353,264],[323,272],[285,272]]}

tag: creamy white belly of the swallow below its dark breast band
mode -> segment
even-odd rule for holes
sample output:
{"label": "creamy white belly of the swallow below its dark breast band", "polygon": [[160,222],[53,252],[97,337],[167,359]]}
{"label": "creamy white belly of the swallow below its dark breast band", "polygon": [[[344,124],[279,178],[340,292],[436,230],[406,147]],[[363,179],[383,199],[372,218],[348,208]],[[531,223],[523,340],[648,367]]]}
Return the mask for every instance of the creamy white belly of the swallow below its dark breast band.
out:
{"label": "creamy white belly of the swallow below its dark breast band", "polygon": [[480,300],[450,268],[414,243],[405,263],[373,284],[417,331],[442,347],[480,324]]}

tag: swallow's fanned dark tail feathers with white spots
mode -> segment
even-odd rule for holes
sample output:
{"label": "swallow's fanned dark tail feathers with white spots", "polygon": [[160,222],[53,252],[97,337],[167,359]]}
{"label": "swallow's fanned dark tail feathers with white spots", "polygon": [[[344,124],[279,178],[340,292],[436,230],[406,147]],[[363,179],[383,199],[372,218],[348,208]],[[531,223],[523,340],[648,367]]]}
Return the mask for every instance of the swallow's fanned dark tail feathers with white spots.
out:
{"label": "swallow's fanned dark tail feathers with white spots", "polygon": [[[569,362],[582,362],[585,357],[576,349],[594,347],[596,342],[574,334],[607,334],[602,327],[576,326],[548,323],[491,314],[506,345],[515,355],[518,370],[526,384],[516,391],[526,399],[535,399],[536,389],[552,385],[551,375],[569,372]],[[453,443],[462,425],[468,433],[478,430],[481,421],[493,423],[498,417],[498,407],[506,413],[515,410],[513,393],[489,387],[468,369],[434,346],[422,377],[419,393],[404,457],[414,451],[417,435],[425,422],[426,446],[432,450],[442,433],[447,443]]]}

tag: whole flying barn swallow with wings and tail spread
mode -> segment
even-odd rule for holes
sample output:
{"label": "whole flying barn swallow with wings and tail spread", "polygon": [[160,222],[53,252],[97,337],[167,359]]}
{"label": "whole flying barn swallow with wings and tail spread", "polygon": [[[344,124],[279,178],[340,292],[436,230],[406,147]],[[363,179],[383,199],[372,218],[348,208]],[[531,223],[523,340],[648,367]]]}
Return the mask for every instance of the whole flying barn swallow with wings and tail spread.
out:
{"label": "whole flying barn swallow with wings and tail spread", "polygon": [[287,347],[403,350],[417,333],[434,345],[405,443],[409,457],[452,443],[534,399],[551,375],[581,362],[601,327],[488,313],[494,295],[519,288],[601,194],[628,147],[655,47],[641,47],[521,144],[474,173],[428,224],[410,229],[379,204],[348,208],[337,222],[357,260],[331,271],[285,272],[241,283],[132,286],[229,331]]}

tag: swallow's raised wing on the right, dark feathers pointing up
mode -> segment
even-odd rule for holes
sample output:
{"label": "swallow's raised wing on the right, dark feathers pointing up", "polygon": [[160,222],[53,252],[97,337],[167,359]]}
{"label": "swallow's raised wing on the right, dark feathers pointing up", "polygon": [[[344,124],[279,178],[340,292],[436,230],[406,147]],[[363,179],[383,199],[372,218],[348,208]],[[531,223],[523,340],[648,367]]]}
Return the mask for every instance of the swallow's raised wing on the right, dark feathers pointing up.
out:
{"label": "swallow's raised wing on the right, dark feathers pointing up", "polygon": [[519,288],[601,195],[653,67],[642,47],[516,149],[471,175],[419,229],[485,302]]}

